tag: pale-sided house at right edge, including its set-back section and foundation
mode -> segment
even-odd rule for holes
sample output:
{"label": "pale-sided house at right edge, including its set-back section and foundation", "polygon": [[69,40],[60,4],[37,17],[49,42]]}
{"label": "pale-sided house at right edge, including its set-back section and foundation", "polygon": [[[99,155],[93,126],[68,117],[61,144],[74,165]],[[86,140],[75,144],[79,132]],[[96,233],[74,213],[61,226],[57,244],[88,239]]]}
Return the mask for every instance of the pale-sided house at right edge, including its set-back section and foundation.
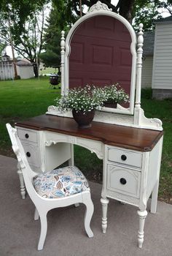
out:
{"label": "pale-sided house at right edge, including its set-back section and foundation", "polygon": [[143,50],[142,88],[152,87],[156,99],[172,97],[172,16],[144,32]]}

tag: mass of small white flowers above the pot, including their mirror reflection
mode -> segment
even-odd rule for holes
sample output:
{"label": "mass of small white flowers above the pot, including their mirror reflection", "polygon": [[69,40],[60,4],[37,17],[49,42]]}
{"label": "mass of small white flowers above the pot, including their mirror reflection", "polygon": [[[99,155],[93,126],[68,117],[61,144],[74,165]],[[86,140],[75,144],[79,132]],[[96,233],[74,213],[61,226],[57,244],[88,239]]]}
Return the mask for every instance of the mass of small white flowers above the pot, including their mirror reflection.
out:
{"label": "mass of small white flowers above the pot, including their mirror reflection", "polygon": [[58,110],[76,110],[91,111],[93,109],[100,110],[107,99],[113,99],[115,102],[129,102],[129,96],[119,86],[104,86],[102,88],[95,86],[77,87],[64,92],[60,99],[55,99]]}

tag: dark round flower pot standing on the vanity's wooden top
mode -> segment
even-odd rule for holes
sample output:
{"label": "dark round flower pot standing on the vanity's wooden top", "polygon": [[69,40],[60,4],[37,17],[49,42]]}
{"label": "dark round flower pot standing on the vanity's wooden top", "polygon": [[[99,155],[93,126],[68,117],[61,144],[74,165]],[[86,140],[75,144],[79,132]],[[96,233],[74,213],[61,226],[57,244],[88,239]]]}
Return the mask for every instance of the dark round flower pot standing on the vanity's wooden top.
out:
{"label": "dark round flower pot standing on the vanity's wooden top", "polygon": [[80,128],[89,128],[91,127],[91,122],[95,116],[95,110],[88,111],[83,113],[82,111],[77,112],[76,110],[72,110],[72,114],[74,116],[74,120],[77,122]]}

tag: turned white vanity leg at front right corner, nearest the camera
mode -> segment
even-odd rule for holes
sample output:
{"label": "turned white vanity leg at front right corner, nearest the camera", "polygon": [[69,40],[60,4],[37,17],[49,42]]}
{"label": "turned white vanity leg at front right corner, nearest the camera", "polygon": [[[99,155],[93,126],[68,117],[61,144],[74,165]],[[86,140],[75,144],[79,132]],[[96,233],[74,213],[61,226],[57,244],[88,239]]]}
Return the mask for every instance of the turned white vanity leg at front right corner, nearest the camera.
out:
{"label": "turned white vanity leg at front right corner, nearest the camera", "polygon": [[144,222],[147,216],[147,211],[137,211],[139,217],[139,229],[138,229],[138,247],[141,248],[144,242]]}

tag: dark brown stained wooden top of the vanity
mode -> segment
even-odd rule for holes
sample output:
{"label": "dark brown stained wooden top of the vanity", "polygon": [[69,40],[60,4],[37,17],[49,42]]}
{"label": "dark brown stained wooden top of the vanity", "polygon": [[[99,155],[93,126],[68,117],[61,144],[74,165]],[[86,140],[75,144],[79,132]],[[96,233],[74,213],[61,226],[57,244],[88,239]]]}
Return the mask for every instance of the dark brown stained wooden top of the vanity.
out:
{"label": "dark brown stained wooden top of the vanity", "polygon": [[151,151],[163,135],[163,132],[152,129],[138,129],[94,121],[92,127],[81,129],[73,118],[51,115],[36,116],[26,121],[18,121],[15,126],[99,140],[108,145],[138,151]]}

